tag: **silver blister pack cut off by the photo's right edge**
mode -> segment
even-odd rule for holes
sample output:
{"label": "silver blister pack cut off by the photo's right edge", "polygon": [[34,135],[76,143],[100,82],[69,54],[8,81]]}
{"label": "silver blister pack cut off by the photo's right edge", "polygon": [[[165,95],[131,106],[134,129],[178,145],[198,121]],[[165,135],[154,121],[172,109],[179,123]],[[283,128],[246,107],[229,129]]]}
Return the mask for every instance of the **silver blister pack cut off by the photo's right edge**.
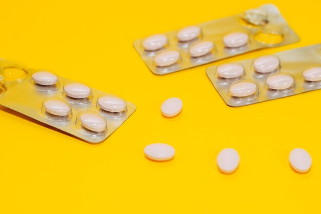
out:
{"label": "silver blister pack cut off by the photo's right edge", "polygon": [[224,102],[245,106],[321,88],[321,44],[211,66],[206,73]]}

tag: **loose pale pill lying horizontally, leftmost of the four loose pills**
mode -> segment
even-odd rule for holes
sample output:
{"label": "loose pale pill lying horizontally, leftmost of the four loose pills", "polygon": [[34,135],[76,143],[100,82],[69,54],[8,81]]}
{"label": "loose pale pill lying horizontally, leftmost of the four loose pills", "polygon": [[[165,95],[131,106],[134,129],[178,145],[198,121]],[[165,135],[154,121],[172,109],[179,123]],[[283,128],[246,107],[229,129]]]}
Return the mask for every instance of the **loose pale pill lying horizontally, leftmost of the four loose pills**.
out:
{"label": "loose pale pill lying horizontally, leftmost of the four loose pills", "polygon": [[144,153],[148,159],[153,161],[167,161],[174,158],[175,149],[164,143],[154,143],[144,148]]}

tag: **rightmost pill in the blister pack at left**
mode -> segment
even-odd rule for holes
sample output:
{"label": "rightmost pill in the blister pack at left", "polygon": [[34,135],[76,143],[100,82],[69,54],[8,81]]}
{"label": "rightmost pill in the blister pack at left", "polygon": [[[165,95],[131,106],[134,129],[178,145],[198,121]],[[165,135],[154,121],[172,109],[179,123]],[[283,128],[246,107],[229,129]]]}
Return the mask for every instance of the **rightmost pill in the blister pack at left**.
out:
{"label": "rightmost pill in the blister pack at left", "polygon": [[109,112],[122,112],[126,110],[126,101],[116,96],[102,96],[98,99],[98,106]]}

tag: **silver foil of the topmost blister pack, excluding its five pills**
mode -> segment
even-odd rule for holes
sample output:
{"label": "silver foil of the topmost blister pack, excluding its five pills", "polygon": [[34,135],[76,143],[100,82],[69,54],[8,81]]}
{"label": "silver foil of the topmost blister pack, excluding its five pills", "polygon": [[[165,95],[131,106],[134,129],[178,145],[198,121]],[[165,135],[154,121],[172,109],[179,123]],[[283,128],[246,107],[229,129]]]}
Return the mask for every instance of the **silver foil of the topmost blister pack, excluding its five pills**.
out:
{"label": "silver foil of the topmost blister pack, excluding its five pills", "polygon": [[[223,60],[234,55],[259,50],[262,48],[283,46],[299,41],[298,35],[290,28],[276,6],[267,4],[258,7],[256,10],[264,11],[267,14],[268,22],[266,24],[252,24],[255,23],[256,20],[252,20],[252,23],[247,23],[243,18],[244,13],[241,13],[238,15],[197,24],[196,26],[200,27],[201,29],[201,34],[196,40],[191,42],[179,42],[176,36],[178,32],[177,30],[164,33],[168,38],[168,43],[160,50],[145,51],[143,47],[143,41],[145,38],[136,40],[133,45],[151,72],[157,75],[164,75],[210,62]],[[223,37],[233,32],[247,33],[249,36],[248,44],[239,48],[226,48],[223,43]],[[271,43],[271,41],[269,44],[258,42],[258,33],[262,34],[263,37],[266,35],[280,35],[282,36],[282,42],[277,42],[274,44],[275,41],[273,41],[273,38],[273,43]],[[188,51],[189,47],[199,41],[211,41],[214,43],[214,48],[209,54],[204,56],[191,57]],[[262,40],[260,39],[259,41]],[[174,65],[157,67],[153,62],[154,56],[157,53],[165,50],[179,51],[180,60]]]}

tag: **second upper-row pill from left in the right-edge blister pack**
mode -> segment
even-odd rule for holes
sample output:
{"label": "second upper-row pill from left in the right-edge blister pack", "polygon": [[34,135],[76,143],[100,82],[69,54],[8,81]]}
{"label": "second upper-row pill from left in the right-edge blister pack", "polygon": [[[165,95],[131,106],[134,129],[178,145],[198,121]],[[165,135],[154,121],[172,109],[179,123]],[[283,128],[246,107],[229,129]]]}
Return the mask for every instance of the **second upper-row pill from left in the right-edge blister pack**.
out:
{"label": "second upper-row pill from left in the right-edge blister pack", "polygon": [[256,72],[269,73],[278,69],[280,61],[276,56],[260,56],[254,60],[253,65]]}

